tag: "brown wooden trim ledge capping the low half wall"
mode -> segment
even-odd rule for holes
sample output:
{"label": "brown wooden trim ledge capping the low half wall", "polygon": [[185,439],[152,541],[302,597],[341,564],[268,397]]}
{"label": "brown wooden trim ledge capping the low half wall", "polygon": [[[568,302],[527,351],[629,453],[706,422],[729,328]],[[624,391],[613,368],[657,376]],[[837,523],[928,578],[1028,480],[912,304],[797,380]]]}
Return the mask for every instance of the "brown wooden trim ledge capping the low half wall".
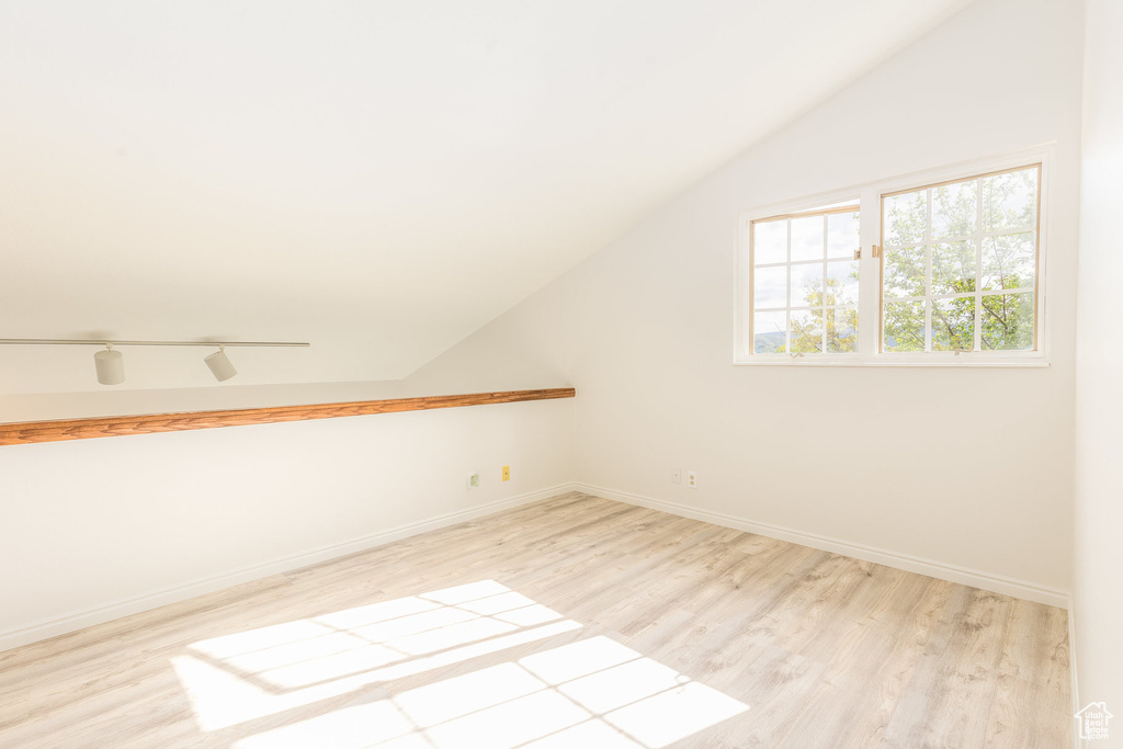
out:
{"label": "brown wooden trim ledge capping the low half wall", "polygon": [[245,427],[248,424],[276,423],[280,421],[308,421],[311,419],[362,417],[373,413],[455,409],[464,405],[550,401],[559,398],[575,398],[576,395],[577,391],[573,387],[554,387],[549,390],[510,390],[496,393],[469,393],[466,395],[395,398],[385,401],[280,405],[267,409],[149,413],[131,417],[95,417],[92,419],[60,421],[24,421],[0,423],[0,445],[31,445],[35,442],[91,439],[94,437],[153,435],[164,431]]}

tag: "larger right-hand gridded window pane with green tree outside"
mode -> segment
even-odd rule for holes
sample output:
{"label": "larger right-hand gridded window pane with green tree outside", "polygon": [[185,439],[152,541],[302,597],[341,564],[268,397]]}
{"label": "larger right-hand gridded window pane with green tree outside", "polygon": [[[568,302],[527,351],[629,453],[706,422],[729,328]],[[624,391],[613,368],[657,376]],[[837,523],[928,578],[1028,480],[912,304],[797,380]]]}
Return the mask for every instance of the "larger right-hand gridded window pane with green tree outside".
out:
{"label": "larger right-hand gridded window pane with green tree outside", "polygon": [[1041,165],[882,195],[886,354],[1038,348]]}

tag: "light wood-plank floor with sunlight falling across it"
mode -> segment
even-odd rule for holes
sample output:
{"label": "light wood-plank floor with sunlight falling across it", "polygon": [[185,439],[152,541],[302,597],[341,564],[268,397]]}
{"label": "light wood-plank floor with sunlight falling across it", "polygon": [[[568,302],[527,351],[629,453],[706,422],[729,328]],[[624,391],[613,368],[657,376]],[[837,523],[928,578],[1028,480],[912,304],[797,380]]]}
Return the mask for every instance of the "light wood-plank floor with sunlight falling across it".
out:
{"label": "light wood-plank floor with sunlight falling across it", "polygon": [[1062,610],[583,494],[0,654],[0,747],[1071,746]]}

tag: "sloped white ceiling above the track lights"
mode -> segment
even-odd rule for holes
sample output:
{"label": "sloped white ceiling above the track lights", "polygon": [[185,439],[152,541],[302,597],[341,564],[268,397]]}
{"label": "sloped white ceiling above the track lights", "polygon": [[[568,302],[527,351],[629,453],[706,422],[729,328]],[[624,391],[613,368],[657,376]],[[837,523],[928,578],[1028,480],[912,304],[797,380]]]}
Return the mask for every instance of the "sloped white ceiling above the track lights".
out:
{"label": "sloped white ceiling above the track lights", "polygon": [[[966,2],[0,0],[0,337],[402,377]],[[0,392],[98,387],[73,356]]]}

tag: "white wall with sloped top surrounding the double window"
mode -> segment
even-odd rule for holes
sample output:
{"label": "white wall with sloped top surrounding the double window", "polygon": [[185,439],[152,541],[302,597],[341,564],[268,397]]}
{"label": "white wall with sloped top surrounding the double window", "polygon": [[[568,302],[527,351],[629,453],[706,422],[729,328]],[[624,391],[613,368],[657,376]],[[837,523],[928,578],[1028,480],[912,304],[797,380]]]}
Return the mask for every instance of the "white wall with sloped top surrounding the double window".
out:
{"label": "white wall with sloped top surrounding the double window", "polygon": [[[407,386],[567,378],[581,482],[1067,591],[1081,35],[973,3]],[[741,211],[1047,141],[1051,367],[730,364]]]}

